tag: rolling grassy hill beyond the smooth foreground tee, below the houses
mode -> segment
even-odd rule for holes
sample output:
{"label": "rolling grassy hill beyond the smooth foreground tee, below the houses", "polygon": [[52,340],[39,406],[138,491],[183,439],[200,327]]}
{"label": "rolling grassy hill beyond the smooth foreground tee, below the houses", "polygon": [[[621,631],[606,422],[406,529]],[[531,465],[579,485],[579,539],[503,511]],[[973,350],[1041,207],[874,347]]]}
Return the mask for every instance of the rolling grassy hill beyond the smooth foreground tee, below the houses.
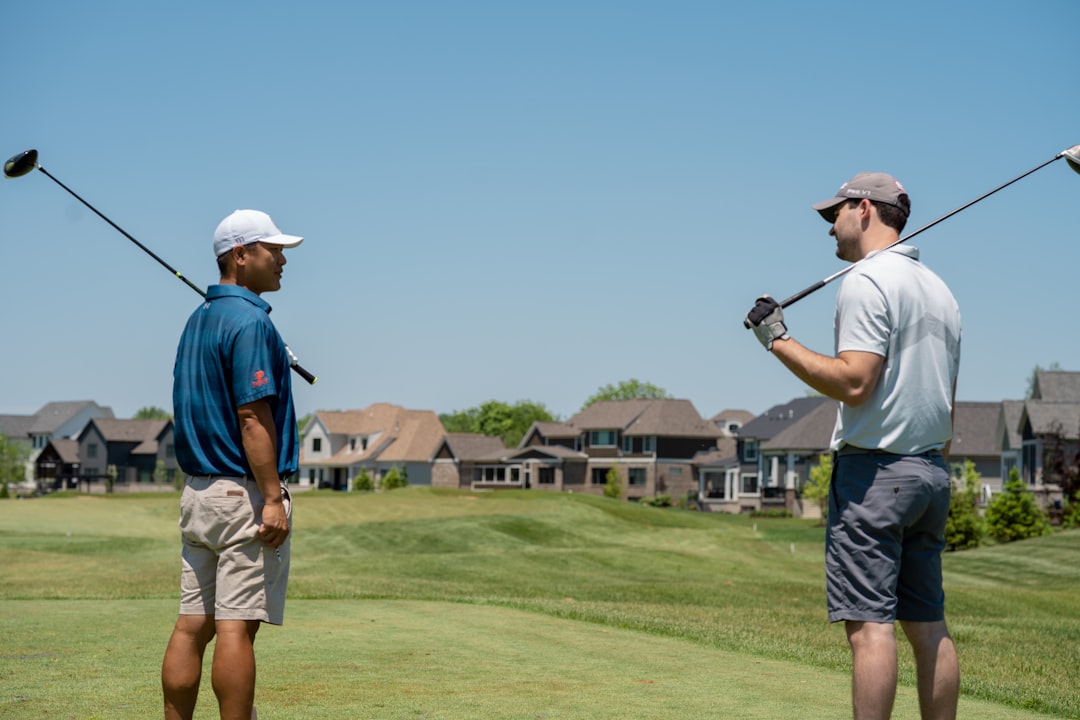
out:
{"label": "rolling grassy hill beyond the smooth foreground tee, below the houses", "polygon": [[[0,502],[0,601],[174,599],[176,502]],[[812,521],[409,488],[300,494],[294,526],[291,602],[468,603],[849,668],[842,630],[827,623],[824,531]],[[1078,532],[946,556],[966,697],[1080,717],[1077,557]],[[906,648],[901,682],[914,687]]]}

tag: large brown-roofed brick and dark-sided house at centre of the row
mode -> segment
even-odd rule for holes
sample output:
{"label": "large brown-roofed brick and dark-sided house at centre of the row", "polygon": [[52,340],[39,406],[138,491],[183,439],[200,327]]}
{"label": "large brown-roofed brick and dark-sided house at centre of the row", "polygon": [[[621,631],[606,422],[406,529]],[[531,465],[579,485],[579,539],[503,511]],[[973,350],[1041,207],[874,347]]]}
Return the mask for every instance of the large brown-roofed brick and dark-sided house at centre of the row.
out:
{"label": "large brown-roofed brick and dark-sided house at centre of the row", "polygon": [[471,459],[458,486],[602,494],[615,468],[622,497],[697,498],[694,458],[725,434],[690,400],[600,400],[565,422],[536,422],[514,449]]}

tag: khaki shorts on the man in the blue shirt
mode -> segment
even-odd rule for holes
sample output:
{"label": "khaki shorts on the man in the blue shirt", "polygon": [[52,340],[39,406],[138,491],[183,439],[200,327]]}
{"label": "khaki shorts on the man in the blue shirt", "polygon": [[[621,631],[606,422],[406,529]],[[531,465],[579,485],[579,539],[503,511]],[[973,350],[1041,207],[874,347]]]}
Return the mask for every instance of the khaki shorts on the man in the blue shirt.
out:
{"label": "khaki shorts on the man in the blue shirt", "polygon": [[[282,497],[292,525],[284,487]],[[276,551],[262,542],[262,505],[254,479],[188,476],[180,495],[181,615],[282,624],[292,535]]]}

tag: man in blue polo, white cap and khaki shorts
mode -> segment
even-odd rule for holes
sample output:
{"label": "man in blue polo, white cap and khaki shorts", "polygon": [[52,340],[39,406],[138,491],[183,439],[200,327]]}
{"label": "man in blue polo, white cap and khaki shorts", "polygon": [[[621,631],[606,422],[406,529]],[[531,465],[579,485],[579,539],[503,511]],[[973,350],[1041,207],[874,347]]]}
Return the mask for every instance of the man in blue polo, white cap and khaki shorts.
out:
{"label": "man in blue polo, white cap and khaki shorts", "polygon": [[173,370],[176,457],[187,474],[180,612],[165,650],[166,720],[190,720],[202,658],[215,636],[212,680],[222,720],[255,709],[255,635],[281,625],[288,583],[299,437],[288,351],[260,297],[281,288],[283,234],[268,215],[237,210],[214,233],[220,284],[191,315]]}

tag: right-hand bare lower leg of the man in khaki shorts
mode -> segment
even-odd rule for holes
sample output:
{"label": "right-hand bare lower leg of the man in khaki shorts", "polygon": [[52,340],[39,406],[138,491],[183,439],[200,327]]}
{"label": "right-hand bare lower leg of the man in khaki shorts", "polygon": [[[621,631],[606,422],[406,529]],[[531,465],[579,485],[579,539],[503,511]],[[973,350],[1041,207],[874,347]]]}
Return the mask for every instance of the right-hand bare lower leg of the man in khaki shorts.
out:
{"label": "right-hand bare lower leg of the man in khaki shorts", "polygon": [[220,620],[211,680],[221,720],[249,720],[255,704],[257,620]]}

